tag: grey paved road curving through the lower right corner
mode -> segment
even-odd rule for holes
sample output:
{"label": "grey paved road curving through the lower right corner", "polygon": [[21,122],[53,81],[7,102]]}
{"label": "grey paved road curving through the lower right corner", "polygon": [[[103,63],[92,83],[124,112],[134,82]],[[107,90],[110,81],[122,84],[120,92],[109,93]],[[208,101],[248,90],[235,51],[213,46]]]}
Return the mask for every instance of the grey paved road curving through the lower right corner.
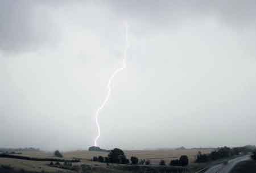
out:
{"label": "grey paved road curving through the lower right corner", "polygon": [[242,157],[230,159],[227,164],[221,163],[221,164],[212,166],[205,173],[229,173],[237,163],[246,161],[249,159],[250,159],[250,155],[244,155]]}

